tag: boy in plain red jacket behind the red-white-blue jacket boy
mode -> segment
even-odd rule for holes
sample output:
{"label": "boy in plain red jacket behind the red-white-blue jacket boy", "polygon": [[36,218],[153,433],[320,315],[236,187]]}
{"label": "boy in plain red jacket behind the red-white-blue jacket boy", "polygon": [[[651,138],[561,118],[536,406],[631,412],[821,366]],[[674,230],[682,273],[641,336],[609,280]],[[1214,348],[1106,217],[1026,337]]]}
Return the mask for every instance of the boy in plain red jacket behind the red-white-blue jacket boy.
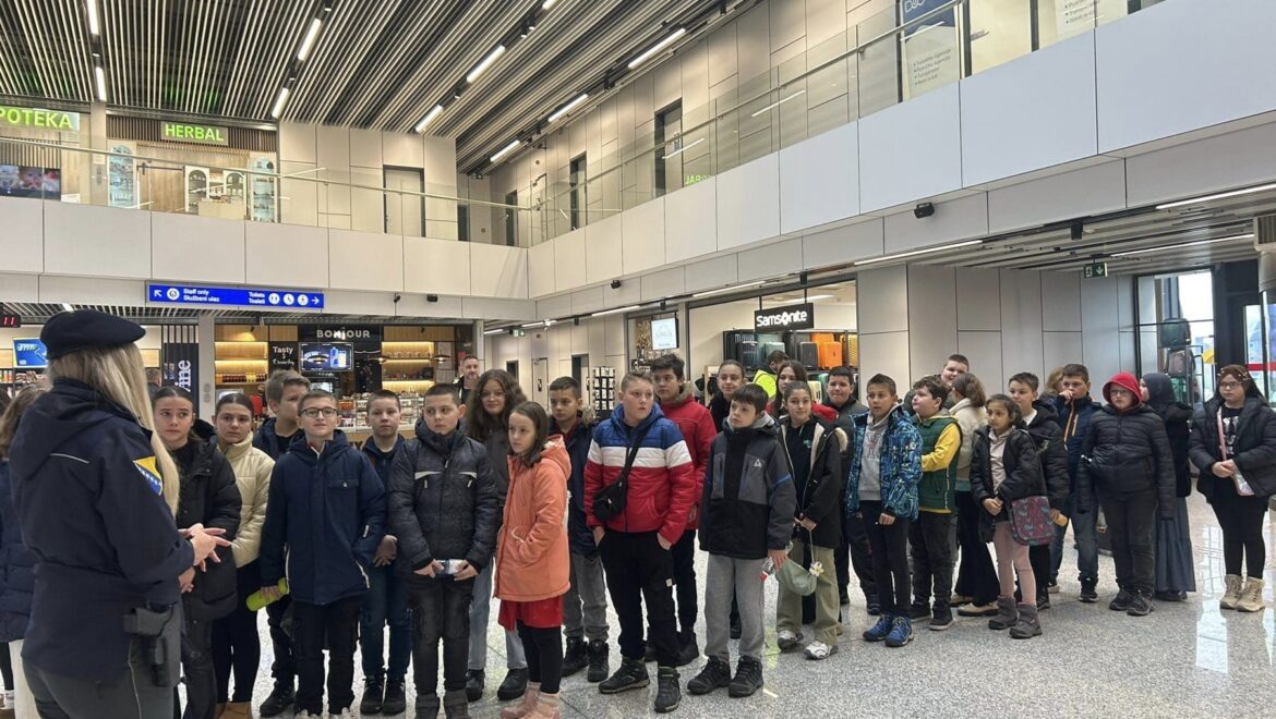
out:
{"label": "boy in plain red jacket behind the red-white-blue jacket boy", "polygon": [[[651,363],[651,379],[656,382],[660,410],[683,432],[686,451],[690,453],[692,464],[695,467],[695,477],[701,478],[708,468],[709,450],[713,446],[713,437],[717,436],[717,427],[713,425],[709,409],[695,400],[692,385],[685,379],[685,368],[681,357],[665,354]],[[678,623],[681,628],[678,634],[679,667],[690,664],[701,654],[695,645],[695,530],[701,523],[699,500],[697,496],[695,505],[692,506],[692,514],[686,519],[686,532],[670,549],[674,556]],[[655,654],[656,646],[648,641],[647,660],[655,659]]]}

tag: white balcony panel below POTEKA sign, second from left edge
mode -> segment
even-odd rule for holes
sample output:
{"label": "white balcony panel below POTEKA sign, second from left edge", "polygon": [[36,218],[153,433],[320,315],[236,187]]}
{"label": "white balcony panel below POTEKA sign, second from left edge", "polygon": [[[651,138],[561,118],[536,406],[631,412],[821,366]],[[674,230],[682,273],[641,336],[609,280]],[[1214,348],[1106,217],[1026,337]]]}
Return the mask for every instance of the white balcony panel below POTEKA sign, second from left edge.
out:
{"label": "white balcony panel below POTEKA sign, second from left edge", "polygon": [[151,213],[73,203],[43,205],[45,272],[151,277]]}

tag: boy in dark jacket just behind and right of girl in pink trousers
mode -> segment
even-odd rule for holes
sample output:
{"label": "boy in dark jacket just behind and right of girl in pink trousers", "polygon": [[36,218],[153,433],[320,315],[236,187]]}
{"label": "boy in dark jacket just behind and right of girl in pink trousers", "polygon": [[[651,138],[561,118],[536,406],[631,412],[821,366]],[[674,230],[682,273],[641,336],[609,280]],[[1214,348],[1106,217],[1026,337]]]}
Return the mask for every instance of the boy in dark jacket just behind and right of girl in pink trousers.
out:
{"label": "boy in dark jacket just behind and right of girl in pink trousers", "polygon": [[[1031,372],[1020,372],[1011,377],[1009,395],[1023,413],[1023,425],[1037,446],[1041,459],[1041,472],[1045,476],[1050,514],[1059,518],[1068,507],[1068,495],[1072,482],[1068,479],[1068,449],[1063,442],[1063,427],[1054,407],[1040,402],[1037,391],[1041,380]],[[1057,524],[1058,527],[1058,524]],[[1055,576],[1050,563],[1049,544],[1028,548],[1032,562],[1032,575],[1037,581],[1037,609],[1050,608],[1050,586],[1055,586]]]}

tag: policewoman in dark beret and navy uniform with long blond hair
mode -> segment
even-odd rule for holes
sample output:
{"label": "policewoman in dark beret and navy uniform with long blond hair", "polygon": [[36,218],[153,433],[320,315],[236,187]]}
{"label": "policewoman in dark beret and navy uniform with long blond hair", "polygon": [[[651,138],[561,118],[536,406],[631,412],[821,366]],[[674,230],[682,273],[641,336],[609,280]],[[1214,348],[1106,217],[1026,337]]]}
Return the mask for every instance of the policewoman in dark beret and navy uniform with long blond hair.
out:
{"label": "policewoman in dark beret and navy uniform with long blond hair", "polygon": [[230,543],[177,530],[179,474],[151,413],[144,330],[79,310],[40,338],[52,389],[23,414],[9,469],[36,590],[22,658],[43,718],[170,719],[179,599]]}

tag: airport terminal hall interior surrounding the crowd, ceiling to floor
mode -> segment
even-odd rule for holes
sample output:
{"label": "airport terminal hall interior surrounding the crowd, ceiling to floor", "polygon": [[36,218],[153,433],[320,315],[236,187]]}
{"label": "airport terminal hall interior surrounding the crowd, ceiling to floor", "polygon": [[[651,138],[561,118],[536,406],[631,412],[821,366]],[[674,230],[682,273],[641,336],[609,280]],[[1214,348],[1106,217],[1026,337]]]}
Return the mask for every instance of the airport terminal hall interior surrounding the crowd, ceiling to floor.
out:
{"label": "airport terminal hall interior surrounding the crowd, ceiling to floor", "polygon": [[[200,419],[244,394],[258,427],[276,410],[267,382],[297,372],[332,393],[353,445],[374,442],[378,391],[398,395],[406,439],[433,388],[477,396],[467,360],[546,408],[572,377],[588,413],[619,423],[627,375],[669,354],[702,405],[720,371],[775,381],[782,354],[814,404],[833,404],[837,377],[868,403],[886,375],[901,412],[953,357],[988,395],[1028,372],[1064,409],[1065,366],[1087,370],[1096,402],[1120,372],[1159,375],[1215,432],[1202,451],[1228,455],[1208,407],[1235,386],[1276,402],[1272,28],[1271,0],[3,3],[0,395],[47,385],[46,325],[97,310],[143,328],[143,363]],[[1067,447],[1074,492],[1079,439]],[[697,542],[698,653],[675,714],[1271,716],[1276,551],[1248,571],[1257,611],[1222,607],[1233,544],[1197,491],[1210,472],[1184,472],[1191,581],[1164,597],[1157,580],[1150,614],[1109,609],[1127,584],[1105,516],[1097,577],[1078,575],[1077,524],[1059,530],[1027,641],[984,616],[928,631],[930,614],[902,648],[864,641],[878,617],[851,571],[836,651],[809,659],[814,627],[781,651],[777,579],[759,577],[764,683],[739,699],[688,690],[717,571]],[[1224,476],[1229,496],[1265,500]],[[37,562],[37,595],[41,576]],[[523,716],[496,696],[500,607],[472,716]],[[258,614],[249,713],[219,697],[209,719],[299,709],[262,711],[278,687]],[[734,669],[736,639],[729,650]],[[361,662],[350,714],[332,716],[382,715],[360,713]],[[621,694],[564,677],[558,715],[653,715],[646,665],[649,688]],[[185,716],[205,719],[189,683]],[[435,715],[411,669],[404,690],[399,715]]]}

